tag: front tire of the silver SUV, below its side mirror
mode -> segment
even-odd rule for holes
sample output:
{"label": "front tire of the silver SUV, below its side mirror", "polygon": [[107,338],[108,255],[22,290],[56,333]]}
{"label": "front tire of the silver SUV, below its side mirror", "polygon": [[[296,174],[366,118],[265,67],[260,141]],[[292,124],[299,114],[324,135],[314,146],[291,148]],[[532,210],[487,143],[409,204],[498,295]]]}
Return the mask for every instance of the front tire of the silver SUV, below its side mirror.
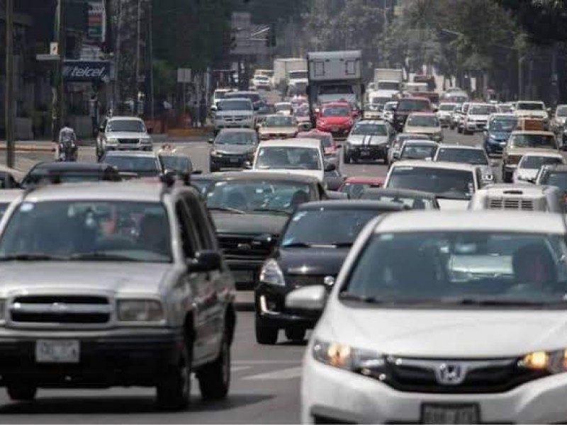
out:
{"label": "front tire of the silver SUV, below its side mirror", "polygon": [[172,365],[157,384],[157,406],[174,411],[186,409],[191,398],[192,342],[184,340],[176,365]]}

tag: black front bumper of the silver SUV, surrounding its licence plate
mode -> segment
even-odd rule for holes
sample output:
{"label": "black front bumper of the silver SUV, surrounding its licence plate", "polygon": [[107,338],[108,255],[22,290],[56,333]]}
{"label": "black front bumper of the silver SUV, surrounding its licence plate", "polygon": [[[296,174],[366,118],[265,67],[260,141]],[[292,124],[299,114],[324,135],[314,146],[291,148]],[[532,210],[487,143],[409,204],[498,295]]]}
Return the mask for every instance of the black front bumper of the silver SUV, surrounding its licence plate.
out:
{"label": "black front bumper of the silver SUV, surrounding its licence plate", "polygon": [[[79,341],[78,363],[38,363],[39,339]],[[174,329],[0,332],[0,385],[38,387],[154,386],[181,355],[183,336]]]}

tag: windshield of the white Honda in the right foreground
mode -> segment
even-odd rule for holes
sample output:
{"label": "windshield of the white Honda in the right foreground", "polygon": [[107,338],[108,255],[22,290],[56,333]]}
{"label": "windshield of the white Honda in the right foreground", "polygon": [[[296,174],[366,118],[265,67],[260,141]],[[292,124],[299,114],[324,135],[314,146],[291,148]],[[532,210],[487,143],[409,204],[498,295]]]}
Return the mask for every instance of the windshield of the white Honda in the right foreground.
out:
{"label": "windshield of the white Honda in the right foreground", "polygon": [[[522,232],[374,234],[342,293],[402,305],[565,307],[565,238]],[[345,297],[346,298],[346,297]]]}

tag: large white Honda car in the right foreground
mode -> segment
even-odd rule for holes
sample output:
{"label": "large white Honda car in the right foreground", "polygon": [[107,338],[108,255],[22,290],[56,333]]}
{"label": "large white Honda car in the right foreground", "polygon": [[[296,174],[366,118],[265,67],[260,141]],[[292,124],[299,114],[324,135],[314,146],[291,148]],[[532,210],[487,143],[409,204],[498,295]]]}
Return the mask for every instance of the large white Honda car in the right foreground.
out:
{"label": "large white Honda car in the right foreground", "polygon": [[562,215],[544,212],[376,217],[330,293],[286,297],[322,312],[301,422],[567,421],[566,237]]}

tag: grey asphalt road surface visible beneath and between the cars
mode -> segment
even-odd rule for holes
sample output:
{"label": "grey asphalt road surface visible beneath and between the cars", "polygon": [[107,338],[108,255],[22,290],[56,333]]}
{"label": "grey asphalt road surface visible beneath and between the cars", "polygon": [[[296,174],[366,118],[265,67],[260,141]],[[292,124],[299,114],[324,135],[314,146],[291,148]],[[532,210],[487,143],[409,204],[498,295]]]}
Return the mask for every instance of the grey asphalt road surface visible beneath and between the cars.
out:
{"label": "grey asphalt road surface visible beneath and between the cars", "polygon": [[[476,145],[481,136],[462,136],[446,131],[445,142]],[[206,140],[176,143],[189,154],[196,169],[208,172]],[[23,171],[37,161],[48,161],[51,154],[18,154]],[[94,149],[83,147],[81,161],[94,161]],[[383,164],[342,164],[348,176],[385,176]],[[287,342],[260,346],[254,339],[254,314],[238,312],[235,344],[232,348],[232,387],[223,402],[204,403],[193,385],[194,402],[185,412],[159,412],[154,390],[113,388],[111,390],[40,390],[30,403],[11,402],[0,390],[0,423],[297,423],[301,357],[304,344]],[[283,339],[283,337],[282,337]]]}

